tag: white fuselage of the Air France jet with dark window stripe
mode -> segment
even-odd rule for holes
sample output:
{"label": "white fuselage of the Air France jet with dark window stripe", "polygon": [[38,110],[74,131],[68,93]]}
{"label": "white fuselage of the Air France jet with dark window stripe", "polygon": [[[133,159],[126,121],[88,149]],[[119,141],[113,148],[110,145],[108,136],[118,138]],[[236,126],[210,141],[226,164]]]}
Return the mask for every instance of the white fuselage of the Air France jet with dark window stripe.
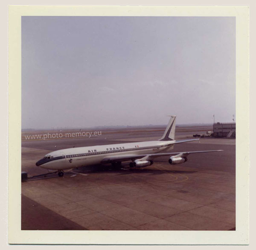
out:
{"label": "white fuselage of the Air France jet with dark window stripe", "polygon": [[36,165],[52,170],[85,167],[101,164],[107,156],[160,153],[172,149],[174,144],[175,140],[67,148],[46,154]]}

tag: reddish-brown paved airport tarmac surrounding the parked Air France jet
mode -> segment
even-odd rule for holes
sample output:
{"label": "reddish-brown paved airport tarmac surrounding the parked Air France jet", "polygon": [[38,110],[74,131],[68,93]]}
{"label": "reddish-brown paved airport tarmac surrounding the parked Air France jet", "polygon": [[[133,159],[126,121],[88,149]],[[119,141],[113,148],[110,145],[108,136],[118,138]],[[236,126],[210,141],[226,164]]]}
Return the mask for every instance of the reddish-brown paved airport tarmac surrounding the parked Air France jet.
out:
{"label": "reddish-brown paved airport tarmac surrounding the parked Air France jet", "polygon": [[[29,177],[47,173],[35,162],[50,151],[154,140],[163,134],[153,129],[139,132],[23,140],[21,170]],[[181,128],[176,138],[192,134]],[[120,170],[74,169],[63,177],[52,174],[22,182],[21,229],[235,230],[235,139],[205,137],[177,144],[172,152],[218,149],[224,151],[191,154],[179,165],[170,165],[165,156],[141,169],[128,170],[129,162],[123,162]]]}

